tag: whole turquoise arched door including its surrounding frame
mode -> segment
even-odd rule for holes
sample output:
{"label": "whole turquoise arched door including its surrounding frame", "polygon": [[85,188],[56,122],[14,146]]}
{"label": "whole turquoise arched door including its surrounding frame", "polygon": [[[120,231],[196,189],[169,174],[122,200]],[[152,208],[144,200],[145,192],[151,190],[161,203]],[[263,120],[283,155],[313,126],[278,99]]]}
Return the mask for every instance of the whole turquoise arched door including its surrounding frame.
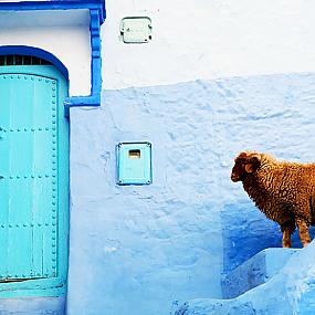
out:
{"label": "whole turquoise arched door including its surrounding frame", "polygon": [[0,67],[0,297],[65,290],[66,91],[53,66]]}

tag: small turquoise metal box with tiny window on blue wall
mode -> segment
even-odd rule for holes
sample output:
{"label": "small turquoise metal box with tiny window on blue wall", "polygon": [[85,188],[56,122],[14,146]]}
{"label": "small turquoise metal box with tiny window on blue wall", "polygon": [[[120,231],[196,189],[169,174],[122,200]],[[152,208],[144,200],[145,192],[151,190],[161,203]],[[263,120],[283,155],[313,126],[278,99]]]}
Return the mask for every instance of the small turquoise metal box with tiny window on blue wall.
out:
{"label": "small turquoise metal box with tiny window on blue wall", "polygon": [[151,144],[119,143],[117,145],[117,183],[150,185],[151,182]]}

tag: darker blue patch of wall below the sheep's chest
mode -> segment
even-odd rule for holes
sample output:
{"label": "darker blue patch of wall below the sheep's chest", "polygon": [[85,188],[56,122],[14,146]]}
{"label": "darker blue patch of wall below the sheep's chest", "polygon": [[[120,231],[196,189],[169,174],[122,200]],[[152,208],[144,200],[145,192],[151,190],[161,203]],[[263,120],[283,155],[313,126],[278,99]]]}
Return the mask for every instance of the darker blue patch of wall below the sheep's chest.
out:
{"label": "darker blue patch of wall below the sheep's chest", "polygon": [[[222,217],[223,274],[229,273],[260,251],[282,246],[277,223],[266,219],[252,203],[232,203],[224,207]],[[312,239],[315,229],[311,228]],[[302,248],[297,230],[292,248]]]}

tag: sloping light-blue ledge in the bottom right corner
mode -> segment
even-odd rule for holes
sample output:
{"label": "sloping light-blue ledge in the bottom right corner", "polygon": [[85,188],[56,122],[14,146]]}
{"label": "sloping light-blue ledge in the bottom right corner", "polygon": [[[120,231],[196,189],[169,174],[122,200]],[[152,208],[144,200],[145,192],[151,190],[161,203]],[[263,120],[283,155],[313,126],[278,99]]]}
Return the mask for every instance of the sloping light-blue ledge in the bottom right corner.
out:
{"label": "sloping light-blue ledge in the bottom right corner", "polygon": [[[273,254],[274,258],[280,256],[279,253],[271,256]],[[276,262],[277,266],[280,264]],[[174,315],[314,315],[314,309],[315,242],[312,242],[291,254],[269,282],[231,300],[191,300]]]}

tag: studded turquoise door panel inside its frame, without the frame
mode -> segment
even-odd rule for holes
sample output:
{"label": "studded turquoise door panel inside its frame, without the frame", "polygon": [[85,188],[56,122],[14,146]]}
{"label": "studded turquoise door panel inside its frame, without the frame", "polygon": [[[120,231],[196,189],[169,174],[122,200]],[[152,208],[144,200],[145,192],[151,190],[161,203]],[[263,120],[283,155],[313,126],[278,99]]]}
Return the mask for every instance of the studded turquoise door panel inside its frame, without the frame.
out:
{"label": "studded turquoise door panel inside its frame, without the frame", "polygon": [[57,81],[0,75],[0,282],[57,274]]}

